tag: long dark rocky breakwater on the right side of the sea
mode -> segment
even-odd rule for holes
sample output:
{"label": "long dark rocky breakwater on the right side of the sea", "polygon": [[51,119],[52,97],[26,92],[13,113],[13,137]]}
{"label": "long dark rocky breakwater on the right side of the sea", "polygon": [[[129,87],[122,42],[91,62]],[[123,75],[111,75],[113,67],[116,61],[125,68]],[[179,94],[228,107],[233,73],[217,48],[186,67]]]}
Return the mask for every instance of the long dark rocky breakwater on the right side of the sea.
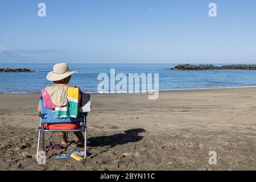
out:
{"label": "long dark rocky breakwater on the right side of the sea", "polygon": [[256,69],[255,64],[233,64],[233,65],[222,65],[221,67],[214,66],[212,64],[180,64],[169,70],[204,70],[204,69]]}

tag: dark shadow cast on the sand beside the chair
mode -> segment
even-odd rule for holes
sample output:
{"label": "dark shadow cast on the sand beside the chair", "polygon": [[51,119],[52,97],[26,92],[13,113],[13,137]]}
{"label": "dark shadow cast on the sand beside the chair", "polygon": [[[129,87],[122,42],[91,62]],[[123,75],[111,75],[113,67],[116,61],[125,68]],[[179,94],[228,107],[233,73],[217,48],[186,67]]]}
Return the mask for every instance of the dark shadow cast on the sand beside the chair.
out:
{"label": "dark shadow cast on the sand beside the chair", "polygon": [[101,136],[101,137],[90,137],[90,144],[88,146],[98,147],[98,146],[110,146],[114,147],[118,144],[126,144],[130,142],[138,142],[142,140],[142,136],[139,136],[139,133],[145,132],[144,129],[130,129],[126,130],[125,133],[118,133],[110,136]]}

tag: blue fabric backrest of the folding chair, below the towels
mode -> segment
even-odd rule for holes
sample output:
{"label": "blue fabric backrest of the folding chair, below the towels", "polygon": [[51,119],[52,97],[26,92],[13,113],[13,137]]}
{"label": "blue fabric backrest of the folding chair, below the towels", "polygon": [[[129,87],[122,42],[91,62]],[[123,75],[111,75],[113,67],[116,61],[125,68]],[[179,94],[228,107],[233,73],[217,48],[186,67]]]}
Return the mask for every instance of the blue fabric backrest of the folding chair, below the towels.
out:
{"label": "blue fabric backrest of the folding chair, below the towels", "polygon": [[78,113],[77,118],[65,118],[65,119],[57,119],[55,118],[52,109],[46,109],[44,107],[43,100],[40,99],[41,104],[41,114],[42,114],[42,123],[71,123],[71,122],[82,122],[84,121],[84,117],[82,113]]}

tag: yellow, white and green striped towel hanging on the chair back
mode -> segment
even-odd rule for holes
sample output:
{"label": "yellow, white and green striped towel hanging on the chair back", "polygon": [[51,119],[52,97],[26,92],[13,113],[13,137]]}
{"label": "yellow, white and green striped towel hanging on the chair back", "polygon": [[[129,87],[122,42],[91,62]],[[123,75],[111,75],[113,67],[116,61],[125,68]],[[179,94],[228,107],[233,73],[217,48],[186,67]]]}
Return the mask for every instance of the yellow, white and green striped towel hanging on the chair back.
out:
{"label": "yellow, white and green striped towel hanging on the chair back", "polygon": [[68,88],[68,104],[64,107],[55,107],[55,118],[76,118],[79,109],[79,88]]}

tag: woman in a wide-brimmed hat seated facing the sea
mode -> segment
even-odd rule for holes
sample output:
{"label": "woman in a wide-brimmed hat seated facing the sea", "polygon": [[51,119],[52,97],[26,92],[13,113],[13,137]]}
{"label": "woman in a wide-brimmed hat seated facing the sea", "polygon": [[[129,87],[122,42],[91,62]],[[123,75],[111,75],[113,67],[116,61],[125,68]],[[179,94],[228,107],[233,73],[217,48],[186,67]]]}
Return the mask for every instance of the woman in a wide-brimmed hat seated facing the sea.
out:
{"label": "woman in a wide-brimmed hat seated facing the sea", "polygon": [[[69,81],[71,80],[71,75],[73,73],[78,73],[75,71],[69,71],[68,65],[65,63],[59,63],[55,64],[53,66],[53,71],[49,72],[47,75],[47,80],[53,81],[54,85],[47,86],[48,89],[56,88],[56,87],[62,87],[62,88],[76,88],[75,86],[68,85]],[[51,98],[55,98],[57,102],[61,102],[61,100],[64,100],[64,97],[61,97],[61,92],[57,92],[55,96],[52,96]],[[63,92],[64,93],[64,92]],[[60,99],[59,99],[60,98]],[[41,106],[40,101],[38,104],[38,112],[41,112]],[[71,122],[71,123],[48,123],[45,125],[48,130],[76,130],[78,127],[80,127],[79,122]],[[67,145],[67,136],[66,133],[59,133],[61,137],[61,144],[64,146]],[[82,134],[82,131],[76,131],[74,132],[76,137],[79,139],[79,142],[82,146],[84,146],[84,135]]]}

